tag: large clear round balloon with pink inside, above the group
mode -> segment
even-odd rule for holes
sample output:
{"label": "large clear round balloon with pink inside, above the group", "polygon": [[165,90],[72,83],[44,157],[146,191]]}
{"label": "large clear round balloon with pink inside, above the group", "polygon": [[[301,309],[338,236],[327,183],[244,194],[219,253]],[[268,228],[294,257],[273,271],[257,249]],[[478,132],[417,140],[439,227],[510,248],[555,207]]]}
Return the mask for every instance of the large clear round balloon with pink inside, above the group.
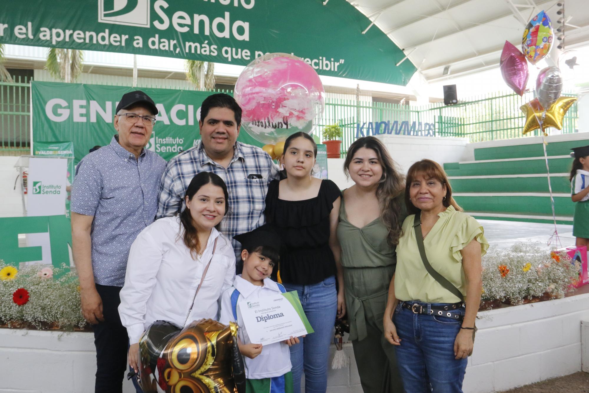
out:
{"label": "large clear round balloon with pink inside, above the group", "polygon": [[325,109],[325,90],[316,71],[301,58],[269,53],[241,72],[234,97],[241,106],[241,128],[266,144],[295,132],[312,133]]}

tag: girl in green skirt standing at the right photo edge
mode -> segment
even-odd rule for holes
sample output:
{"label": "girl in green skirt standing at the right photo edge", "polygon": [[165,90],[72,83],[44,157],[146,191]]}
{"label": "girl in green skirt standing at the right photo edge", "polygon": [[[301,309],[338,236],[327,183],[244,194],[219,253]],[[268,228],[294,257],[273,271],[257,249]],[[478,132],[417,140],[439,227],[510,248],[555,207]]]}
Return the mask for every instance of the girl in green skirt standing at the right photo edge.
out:
{"label": "girl in green skirt standing at the right photo edge", "polygon": [[575,161],[571,169],[571,199],[575,204],[573,215],[573,236],[576,245],[589,248],[589,146],[573,148]]}

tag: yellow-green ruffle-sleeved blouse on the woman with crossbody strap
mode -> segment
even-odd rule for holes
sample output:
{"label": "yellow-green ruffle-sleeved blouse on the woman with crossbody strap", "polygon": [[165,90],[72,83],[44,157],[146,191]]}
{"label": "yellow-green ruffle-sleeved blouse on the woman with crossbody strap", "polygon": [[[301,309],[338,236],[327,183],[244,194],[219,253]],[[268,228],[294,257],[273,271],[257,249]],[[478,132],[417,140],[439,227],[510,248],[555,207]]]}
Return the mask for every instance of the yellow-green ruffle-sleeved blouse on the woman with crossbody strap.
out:
{"label": "yellow-green ruffle-sleeved blouse on the woman with crossbody strap", "polygon": [[[466,280],[460,250],[473,239],[481,243],[481,256],[489,243],[481,224],[452,206],[438,214],[439,219],[423,239],[425,254],[431,266],[466,295]],[[397,245],[395,297],[399,300],[419,300],[425,303],[457,303],[460,299],[429,275],[419,256],[413,219],[403,221],[403,235]]]}

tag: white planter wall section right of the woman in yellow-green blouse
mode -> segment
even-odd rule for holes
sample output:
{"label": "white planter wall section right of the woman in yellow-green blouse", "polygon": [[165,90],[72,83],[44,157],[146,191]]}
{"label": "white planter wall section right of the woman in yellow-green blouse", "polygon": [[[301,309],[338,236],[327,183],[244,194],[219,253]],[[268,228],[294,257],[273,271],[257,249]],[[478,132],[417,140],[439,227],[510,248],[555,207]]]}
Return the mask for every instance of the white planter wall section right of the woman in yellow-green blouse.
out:
{"label": "white planter wall section right of the woman in yellow-green blouse", "polygon": [[589,294],[479,313],[464,391],[503,391],[581,371]]}

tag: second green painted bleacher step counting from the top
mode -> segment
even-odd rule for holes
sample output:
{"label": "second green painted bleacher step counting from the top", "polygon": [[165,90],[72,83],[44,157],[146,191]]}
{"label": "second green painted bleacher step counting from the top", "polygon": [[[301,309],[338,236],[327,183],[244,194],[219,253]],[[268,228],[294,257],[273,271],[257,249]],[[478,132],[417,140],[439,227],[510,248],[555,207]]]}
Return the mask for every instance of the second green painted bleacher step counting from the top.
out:
{"label": "second green painted bleacher step counting from the top", "polygon": [[[548,157],[551,173],[571,171],[573,159],[568,156]],[[460,162],[459,169],[448,169],[448,176],[519,175],[521,173],[546,173],[543,157],[533,159],[501,159],[498,161]]]}

